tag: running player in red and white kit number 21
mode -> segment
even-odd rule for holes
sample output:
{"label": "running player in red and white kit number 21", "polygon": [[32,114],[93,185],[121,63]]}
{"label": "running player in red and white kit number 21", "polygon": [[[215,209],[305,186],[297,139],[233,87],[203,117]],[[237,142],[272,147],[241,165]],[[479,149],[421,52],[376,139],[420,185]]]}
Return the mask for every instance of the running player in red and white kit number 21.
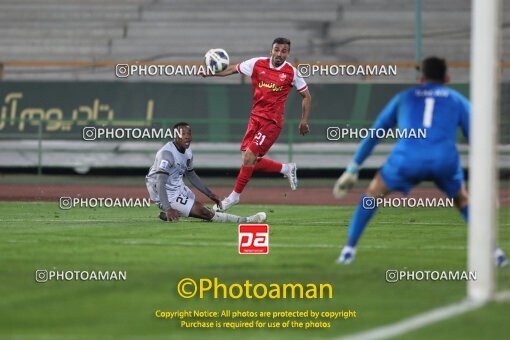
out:
{"label": "running player in red and white kit number 21", "polygon": [[276,38],[271,47],[270,57],[253,58],[238,65],[230,65],[215,76],[229,76],[241,73],[251,77],[253,86],[253,106],[246,134],[241,143],[243,165],[237,175],[232,193],[221,203],[222,208],[214,205],[216,211],[225,211],[237,204],[253,171],[280,172],[289,179],[292,190],[297,189],[297,167],[295,163],[282,164],[264,158],[283,128],[285,101],[292,88],[303,97],[299,133],[306,135],[308,114],[312,97],[303,78],[295,67],[286,60],[290,54],[290,40]]}

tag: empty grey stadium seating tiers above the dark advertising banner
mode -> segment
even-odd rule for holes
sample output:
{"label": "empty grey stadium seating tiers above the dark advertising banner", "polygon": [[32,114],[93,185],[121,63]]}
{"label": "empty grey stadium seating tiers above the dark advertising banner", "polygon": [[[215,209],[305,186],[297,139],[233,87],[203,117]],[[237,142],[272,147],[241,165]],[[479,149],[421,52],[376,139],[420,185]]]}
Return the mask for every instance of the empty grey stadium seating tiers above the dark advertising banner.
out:
{"label": "empty grey stadium seating tiers above the dark advertising banner", "polygon": [[[423,1],[423,52],[468,62],[469,11],[470,1]],[[287,36],[294,61],[400,63],[414,60],[414,22],[409,0],[241,0],[235,6],[228,0],[4,0],[0,62],[7,80],[113,80],[111,67],[83,66],[199,62],[212,47],[239,61],[265,53],[275,36]],[[507,57],[508,44],[504,48]],[[461,71],[453,70],[455,78],[467,81]],[[415,72],[399,69],[398,77],[413,81]]]}

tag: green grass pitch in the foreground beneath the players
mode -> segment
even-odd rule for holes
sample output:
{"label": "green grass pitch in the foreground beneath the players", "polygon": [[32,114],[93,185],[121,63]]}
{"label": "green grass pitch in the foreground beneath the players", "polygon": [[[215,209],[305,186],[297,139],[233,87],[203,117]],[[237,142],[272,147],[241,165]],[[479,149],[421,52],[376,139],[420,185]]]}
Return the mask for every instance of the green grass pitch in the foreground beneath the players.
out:
{"label": "green grass pitch in the foreground beneath the players", "polygon": [[[349,207],[240,205],[236,214],[268,212],[270,253],[237,254],[237,225],[159,221],[157,209],[60,210],[58,203],[0,203],[0,338],[332,338],[461,300],[466,283],[387,283],[385,272],[465,270],[466,226],[453,209],[380,209],[350,266],[334,263],[346,238]],[[510,250],[508,216],[500,243]],[[506,223],[505,223],[506,222]],[[47,270],[125,270],[126,281],[36,283]],[[183,299],[180,279],[223,283],[331,283],[333,299]],[[498,270],[498,289],[510,270]],[[340,311],[357,317],[328,329],[182,329],[157,310]],[[504,339],[509,304],[492,303],[401,338]]]}

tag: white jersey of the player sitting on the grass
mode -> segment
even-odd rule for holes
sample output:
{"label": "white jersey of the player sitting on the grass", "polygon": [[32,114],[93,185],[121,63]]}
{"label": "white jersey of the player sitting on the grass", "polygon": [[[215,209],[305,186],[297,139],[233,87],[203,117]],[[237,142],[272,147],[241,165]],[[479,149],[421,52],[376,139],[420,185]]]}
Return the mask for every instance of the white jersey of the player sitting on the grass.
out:
{"label": "white jersey of the player sitting on the grass", "polygon": [[166,189],[168,199],[174,200],[184,190],[183,176],[193,170],[193,153],[188,148],[181,153],[173,142],[166,143],[156,154],[156,159],[147,174],[148,182],[155,182],[157,173],[168,174]]}

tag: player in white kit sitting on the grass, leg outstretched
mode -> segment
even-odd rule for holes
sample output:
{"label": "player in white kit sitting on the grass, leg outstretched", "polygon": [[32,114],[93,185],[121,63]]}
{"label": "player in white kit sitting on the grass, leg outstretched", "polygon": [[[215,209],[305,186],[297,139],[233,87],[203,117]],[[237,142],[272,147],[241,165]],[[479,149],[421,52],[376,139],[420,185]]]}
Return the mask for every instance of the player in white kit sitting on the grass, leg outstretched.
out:
{"label": "player in white kit sitting on the grass, leg outstretched", "polygon": [[[156,154],[154,164],[146,176],[147,190],[152,201],[162,210],[159,218],[177,222],[179,216],[196,217],[212,222],[262,223],[266,214],[259,212],[253,216],[240,217],[222,212],[214,212],[195,200],[195,194],[184,184],[183,176],[201,193],[221,206],[221,201],[193,170],[191,128],[187,123],[177,123],[173,127],[174,140],[168,142]],[[163,193],[163,194],[161,194]]]}

